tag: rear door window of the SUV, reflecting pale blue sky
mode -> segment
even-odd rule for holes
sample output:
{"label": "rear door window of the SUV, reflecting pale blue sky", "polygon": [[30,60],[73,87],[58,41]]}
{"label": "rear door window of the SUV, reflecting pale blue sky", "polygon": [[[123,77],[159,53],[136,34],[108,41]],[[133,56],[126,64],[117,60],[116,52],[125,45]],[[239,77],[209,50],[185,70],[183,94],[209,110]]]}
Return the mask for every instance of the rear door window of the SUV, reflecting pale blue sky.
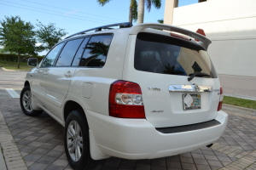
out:
{"label": "rear door window of the SUV, reflecting pale blue sky", "polygon": [[78,48],[83,40],[84,38],[80,38],[67,42],[61,51],[56,66],[70,66],[73,61],[73,57],[77,53]]}

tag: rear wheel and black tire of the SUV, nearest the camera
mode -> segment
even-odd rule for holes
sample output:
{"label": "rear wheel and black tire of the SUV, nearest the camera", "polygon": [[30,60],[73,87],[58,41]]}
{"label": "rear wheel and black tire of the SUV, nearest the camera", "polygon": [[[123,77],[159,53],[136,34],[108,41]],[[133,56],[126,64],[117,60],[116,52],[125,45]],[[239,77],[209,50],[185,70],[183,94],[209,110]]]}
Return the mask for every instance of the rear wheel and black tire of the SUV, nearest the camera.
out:
{"label": "rear wheel and black tire of the SUV, nearest the camera", "polygon": [[96,167],[97,161],[90,157],[89,126],[84,111],[71,111],[67,116],[64,144],[71,167],[84,170]]}

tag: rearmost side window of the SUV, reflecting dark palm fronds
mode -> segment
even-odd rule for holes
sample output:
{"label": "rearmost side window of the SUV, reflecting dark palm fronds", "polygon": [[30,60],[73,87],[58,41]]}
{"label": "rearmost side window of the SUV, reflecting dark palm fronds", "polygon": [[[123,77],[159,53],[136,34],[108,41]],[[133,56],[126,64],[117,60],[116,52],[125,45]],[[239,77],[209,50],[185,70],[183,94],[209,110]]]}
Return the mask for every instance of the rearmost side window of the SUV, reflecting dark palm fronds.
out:
{"label": "rearmost side window of the SUV, reflecting dark palm fronds", "polygon": [[112,37],[113,35],[91,37],[79,66],[102,67],[105,65]]}

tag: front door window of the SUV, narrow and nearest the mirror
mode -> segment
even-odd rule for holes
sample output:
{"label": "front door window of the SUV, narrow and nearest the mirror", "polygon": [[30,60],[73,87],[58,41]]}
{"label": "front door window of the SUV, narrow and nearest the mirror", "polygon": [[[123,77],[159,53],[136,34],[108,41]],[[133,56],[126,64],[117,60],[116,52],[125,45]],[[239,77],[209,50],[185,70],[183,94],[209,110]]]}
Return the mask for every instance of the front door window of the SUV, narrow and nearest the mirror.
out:
{"label": "front door window of the SUV, narrow and nearest the mirror", "polygon": [[53,48],[49,54],[47,54],[47,56],[44,58],[41,67],[49,67],[52,66],[55,62],[55,59],[57,57],[57,54],[59,54],[62,46],[64,45],[64,43],[60,43],[59,45],[55,46],[55,48]]}

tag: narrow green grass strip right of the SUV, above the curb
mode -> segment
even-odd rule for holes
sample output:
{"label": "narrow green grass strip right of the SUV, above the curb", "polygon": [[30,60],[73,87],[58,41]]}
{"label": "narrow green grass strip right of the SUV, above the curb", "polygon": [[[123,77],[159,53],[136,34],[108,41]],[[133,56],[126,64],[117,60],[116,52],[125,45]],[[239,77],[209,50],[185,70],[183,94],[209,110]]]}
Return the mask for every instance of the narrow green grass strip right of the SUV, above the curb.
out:
{"label": "narrow green grass strip right of the SUV, above the curb", "polygon": [[256,101],[255,100],[240,99],[240,98],[234,98],[234,97],[230,97],[230,96],[224,96],[223,103],[228,104],[228,105],[237,105],[237,106],[241,106],[241,107],[247,107],[247,108],[256,110]]}

